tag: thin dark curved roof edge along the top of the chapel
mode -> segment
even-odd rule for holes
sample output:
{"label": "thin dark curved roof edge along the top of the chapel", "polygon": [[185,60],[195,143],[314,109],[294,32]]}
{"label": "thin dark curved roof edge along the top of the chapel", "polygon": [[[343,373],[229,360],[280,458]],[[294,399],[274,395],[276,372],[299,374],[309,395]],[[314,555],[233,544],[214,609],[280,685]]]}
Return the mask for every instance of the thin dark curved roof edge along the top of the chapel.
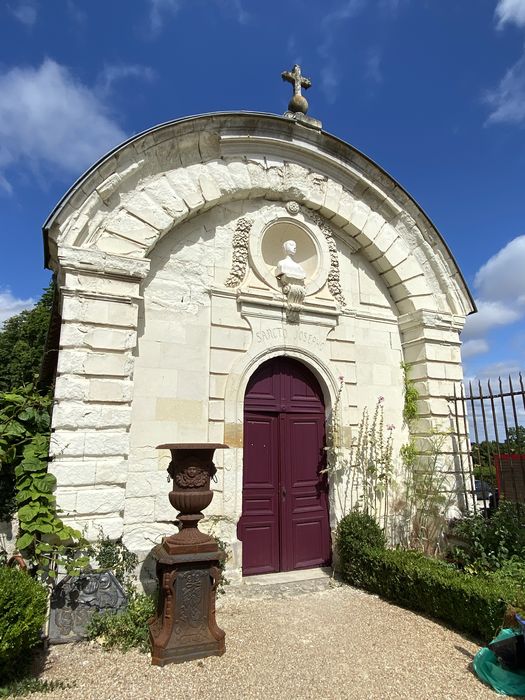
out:
{"label": "thin dark curved roof edge along the top of the chapel", "polygon": [[[242,110],[236,110],[236,111],[225,111],[225,112],[206,112],[203,114],[197,114],[197,115],[192,115],[192,116],[187,116],[187,117],[181,117],[180,119],[172,119],[167,122],[163,122],[161,124],[157,124],[156,126],[150,127],[149,129],[146,129],[144,131],[139,132],[138,134],[135,134],[134,136],[131,136],[129,139],[126,139],[126,141],[123,141],[120,143],[118,146],[115,146],[115,148],[112,148],[110,151],[108,151],[104,156],[99,158],[90,168],[88,168],[84,173],[73,183],[73,185],[64,193],[64,195],[61,197],[61,199],[58,201],[57,205],[54,207],[54,209],[51,211],[49,216],[47,217],[46,221],[44,222],[44,225],[42,226],[42,234],[44,238],[44,265],[45,267],[48,266],[48,261],[49,261],[49,246],[48,246],[48,240],[47,240],[47,233],[51,226],[53,225],[56,217],[60,214],[61,210],[63,207],[66,205],[67,201],[69,200],[70,197],[72,197],[77,190],[82,186],[83,182],[87,180],[87,178],[95,171],[97,168],[99,168],[103,163],[105,163],[107,160],[109,160],[113,155],[118,153],[119,151],[124,150],[127,146],[130,144],[139,141],[140,139],[144,138],[145,136],[148,136],[156,131],[161,131],[162,129],[169,128],[171,126],[175,126],[178,124],[184,124],[186,122],[192,122],[192,121],[199,121],[199,120],[204,120],[204,119],[210,119],[214,117],[256,117],[258,119],[266,118],[269,120],[274,120],[277,122],[282,122],[287,125],[294,125],[297,124],[297,122],[287,118],[280,116],[278,114],[271,114],[269,112],[251,112],[251,111],[242,111]],[[380,165],[378,165],[372,158],[367,156],[365,153],[360,151],[358,148],[355,146],[352,146],[348,142],[344,141],[343,139],[339,138],[338,136],[335,136],[334,134],[331,134],[324,129],[318,131],[317,129],[313,129],[311,127],[306,127],[303,124],[301,124],[303,129],[306,129],[307,131],[312,131],[314,133],[319,133],[325,138],[328,138],[329,140],[333,141],[335,144],[342,146],[343,148],[349,149],[359,155],[361,158],[363,158],[365,161],[367,161],[370,165],[372,165],[374,168],[377,168],[378,171],[380,171],[383,175],[385,175],[396,187],[399,188],[399,190],[412,202],[412,204],[423,214],[423,216],[427,219],[429,224],[432,226],[434,231],[437,233],[437,235],[440,238],[441,243],[445,247],[448,255],[450,256],[450,259],[454,263],[456,270],[460,276],[460,279],[463,283],[463,287],[465,289],[465,292],[469,298],[469,301],[472,305],[472,311],[470,313],[475,313],[477,311],[476,303],[474,301],[474,298],[470,292],[470,289],[465,281],[465,278],[463,276],[463,273],[461,272],[461,269],[459,265],[457,264],[456,258],[454,257],[452,251],[450,250],[447,242],[439,232],[438,228],[435,226],[434,222],[430,218],[430,216],[426,213],[426,211],[421,207],[421,205],[412,197],[412,195],[394,178],[392,175],[390,175],[389,172],[387,172],[384,168],[382,168]]]}

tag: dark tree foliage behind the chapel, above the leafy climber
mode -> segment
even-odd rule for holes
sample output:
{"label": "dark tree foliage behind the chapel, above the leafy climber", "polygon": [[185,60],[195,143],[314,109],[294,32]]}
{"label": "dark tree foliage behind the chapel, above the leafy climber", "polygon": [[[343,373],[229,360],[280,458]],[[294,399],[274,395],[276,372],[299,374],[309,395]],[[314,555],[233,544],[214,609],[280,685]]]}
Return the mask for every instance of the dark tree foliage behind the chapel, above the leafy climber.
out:
{"label": "dark tree foliage behind the chapel, above the leafy climber", "polygon": [[44,354],[54,286],[49,284],[32,309],[4,322],[0,331],[0,391],[35,382]]}

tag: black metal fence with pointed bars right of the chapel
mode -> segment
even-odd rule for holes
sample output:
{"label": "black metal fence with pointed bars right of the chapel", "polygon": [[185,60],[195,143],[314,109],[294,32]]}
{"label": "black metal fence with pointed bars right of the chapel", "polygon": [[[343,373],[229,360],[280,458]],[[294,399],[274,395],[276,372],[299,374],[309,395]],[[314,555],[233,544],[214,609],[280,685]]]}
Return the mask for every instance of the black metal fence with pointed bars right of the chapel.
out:
{"label": "black metal fence with pointed bars right of the chapel", "polygon": [[455,452],[466,507],[490,513],[505,498],[525,503],[525,386],[517,378],[469,382],[452,402]]}

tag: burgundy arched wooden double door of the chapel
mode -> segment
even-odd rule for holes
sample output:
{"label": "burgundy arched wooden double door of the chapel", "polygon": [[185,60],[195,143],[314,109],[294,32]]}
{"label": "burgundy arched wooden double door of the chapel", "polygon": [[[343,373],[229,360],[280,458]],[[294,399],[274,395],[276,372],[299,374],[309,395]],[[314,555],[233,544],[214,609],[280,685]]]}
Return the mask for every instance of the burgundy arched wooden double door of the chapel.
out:
{"label": "burgundy arched wooden double door of the chapel", "polygon": [[243,574],[330,563],[325,407],[302,363],[275,357],[248,382],[244,400]]}

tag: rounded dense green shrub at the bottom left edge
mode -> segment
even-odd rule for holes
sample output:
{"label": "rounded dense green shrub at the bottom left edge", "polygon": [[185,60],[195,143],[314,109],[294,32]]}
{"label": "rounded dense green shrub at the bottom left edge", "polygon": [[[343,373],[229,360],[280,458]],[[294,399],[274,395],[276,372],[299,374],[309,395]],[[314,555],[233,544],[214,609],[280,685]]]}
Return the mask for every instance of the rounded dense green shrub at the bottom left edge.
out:
{"label": "rounded dense green shrub at the bottom left edge", "polygon": [[27,665],[40,641],[47,613],[47,591],[20,569],[0,568],[0,681]]}

